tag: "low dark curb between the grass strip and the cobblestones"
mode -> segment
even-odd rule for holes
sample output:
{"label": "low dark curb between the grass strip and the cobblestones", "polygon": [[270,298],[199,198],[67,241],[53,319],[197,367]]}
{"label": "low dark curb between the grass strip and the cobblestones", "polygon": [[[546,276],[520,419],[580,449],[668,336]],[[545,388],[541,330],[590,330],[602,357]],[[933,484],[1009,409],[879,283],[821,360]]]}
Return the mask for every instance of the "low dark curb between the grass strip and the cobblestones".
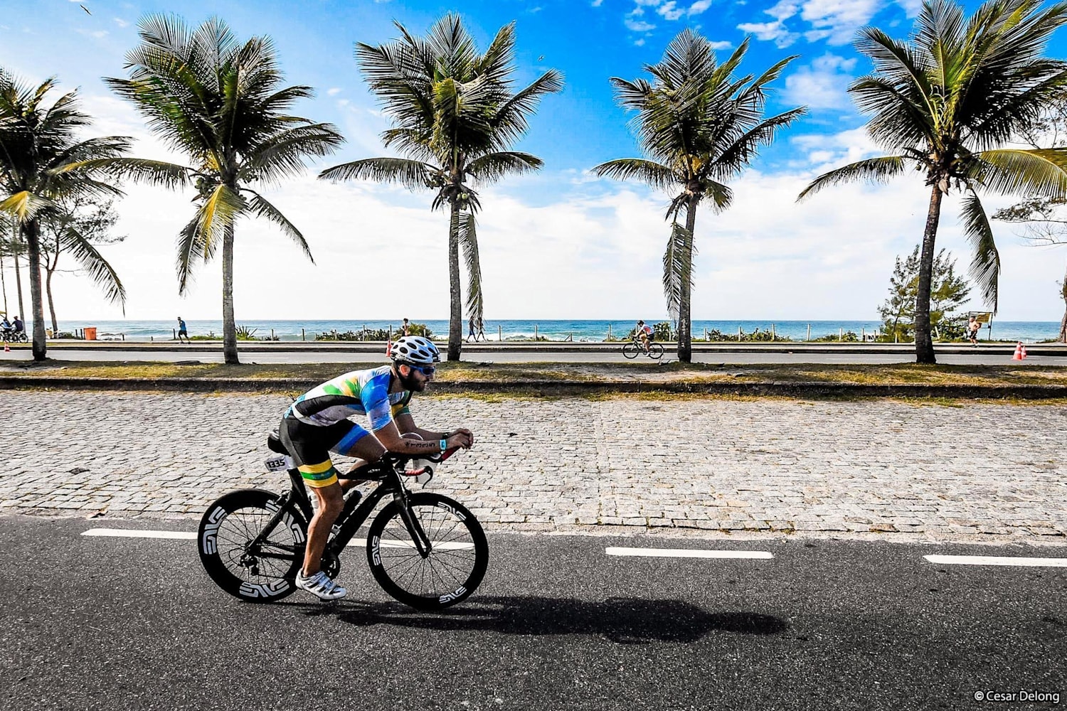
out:
{"label": "low dark curb between the grass strip and the cobblestones", "polygon": [[[0,389],[62,390],[168,390],[177,392],[262,392],[291,390],[303,392],[319,384],[303,378],[237,378],[237,377],[43,377],[0,376]],[[433,393],[534,393],[538,395],[585,395],[598,393],[682,392],[695,394],[783,395],[793,398],[953,398],[986,400],[1015,398],[1019,400],[1051,400],[1067,398],[1067,385],[865,385],[818,382],[704,383],[674,381],[458,381],[436,382]]]}

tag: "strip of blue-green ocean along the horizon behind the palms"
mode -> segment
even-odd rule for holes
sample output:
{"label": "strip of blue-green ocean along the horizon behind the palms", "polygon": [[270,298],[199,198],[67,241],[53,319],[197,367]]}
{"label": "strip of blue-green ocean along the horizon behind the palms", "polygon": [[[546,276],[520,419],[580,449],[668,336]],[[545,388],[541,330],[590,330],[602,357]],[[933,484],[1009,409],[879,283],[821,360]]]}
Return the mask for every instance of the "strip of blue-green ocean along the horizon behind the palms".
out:
{"label": "strip of blue-green ocean along the horizon behind the palms", "polygon": [[[388,328],[394,333],[400,325],[400,319],[392,321],[381,320],[349,320],[349,321],[252,321],[238,319],[238,326],[245,326],[255,329],[257,337],[275,336],[283,341],[314,341],[316,334],[332,334],[359,332],[366,328]],[[426,323],[434,337],[444,337],[448,333],[448,322],[441,320],[421,321],[412,319],[418,323]],[[607,320],[493,320],[485,321],[485,336],[491,341],[497,339],[531,339],[535,334],[550,340],[560,341],[568,338],[579,342],[595,342],[604,340],[610,334],[618,338],[625,336],[637,322],[637,319],[622,321]],[[193,321],[187,320],[189,334],[192,336],[206,336],[214,334],[222,338],[222,321]],[[60,321],[60,330],[74,332],[75,329],[95,326],[97,338],[101,340],[147,341],[147,340],[169,340],[174,337],[177,329],[176,321]],[[779,336],[787,336],[794,341],[803,341],[810,337],[812,339],[822,336],[837,336],[841,330],[853,332],[856,335],[862,333],[872,334],[878,330],[878,321],[694,321],[692,335],[695,338],[703,338],[704,329],[717,328],[723,335],[736,335],[740,328],[745,333],[752,333],[757,328],[761,330],[775,329]],[[997,340],[1023,341],[1034,343],[1051,338],[1055,338],[1060,333],[1057,321],[994,321],[992,325],[992,338]],[[983,328],[980,338],[989,338],[988,328]],[[467,324],[463,324],[463,336],[467,336]]]}

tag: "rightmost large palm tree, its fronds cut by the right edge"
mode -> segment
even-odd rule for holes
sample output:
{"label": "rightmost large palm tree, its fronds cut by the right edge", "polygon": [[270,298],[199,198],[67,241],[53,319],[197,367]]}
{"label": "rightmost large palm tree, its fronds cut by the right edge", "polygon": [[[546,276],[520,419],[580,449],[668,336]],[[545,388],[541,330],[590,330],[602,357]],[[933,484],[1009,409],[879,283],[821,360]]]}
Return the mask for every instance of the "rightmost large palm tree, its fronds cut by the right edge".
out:
{"label": "rightmost large palm tree, its fronds cut by the right edge", "polygon": [[971,275],[997,310],[1000,255],[978,191],[1040,196],[1067,194],[1067,148],[1010,145],[1067,86],[1067,64],[1041,56],[1067,22],[1067,3],[1040,10],[1038,0],[990,0],[968,19],[949,0],[927,0],[907,42],[881,30],[860,31],[857,49],[874,72],[848,92],[872,114],[867,133],[892,155],[825,173],[798,199],[850,180],[885,181],[908,167],[930,189],[915,297],[915,360],[934,363],[930,279],[941,201],[961,192],[964,232],[974,248]]}

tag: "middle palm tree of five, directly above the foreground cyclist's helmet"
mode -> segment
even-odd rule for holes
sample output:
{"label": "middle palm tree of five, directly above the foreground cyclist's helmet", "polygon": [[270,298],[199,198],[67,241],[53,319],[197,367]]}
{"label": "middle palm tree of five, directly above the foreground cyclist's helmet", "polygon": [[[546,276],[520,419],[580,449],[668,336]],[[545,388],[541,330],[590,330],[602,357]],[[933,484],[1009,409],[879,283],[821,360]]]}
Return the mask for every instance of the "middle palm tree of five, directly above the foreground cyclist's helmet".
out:
{"label": "middle palm tree of five, directly above the foreground cyclist's helmet", "polygon": [[371,47],[359,43],[355,58],[394,128],[382,133],[385,147],[409,158],[368,158],[323,171],[320,177],[369,178],[398,182],[411,190],[435,190],[431,209],[448,206],[448,277],[450,292],[448,359],[459,360],[463,336],[459,249],[463,245],[468,276],[467,310],[481,317],[481,265],[475,212],[478,193],[469,185],[490,183],[509,174],[541,167],[542,161],[510,146],[527,129],[528,117],[545,94],[563,87],[555,69],[512,92],[514,23],[496,33],[483,54],[449,14],[426,38],[413,37],[397,23],[402,38]]}

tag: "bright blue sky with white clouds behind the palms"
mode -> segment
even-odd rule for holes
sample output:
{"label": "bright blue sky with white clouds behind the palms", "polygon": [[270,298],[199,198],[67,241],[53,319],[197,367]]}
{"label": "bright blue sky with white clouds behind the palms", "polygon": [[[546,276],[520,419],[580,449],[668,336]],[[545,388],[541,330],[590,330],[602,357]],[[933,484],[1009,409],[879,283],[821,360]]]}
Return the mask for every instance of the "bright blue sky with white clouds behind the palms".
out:
{"label": "bright blue sky with white clouds behind the palms", "polygon": [[[87,14],[84,5],[92,14]],[[918,11],[914,0],[496,0],[455,5],[414,0],[276,2],[0,1],[0,66],[25,80],[55,75],[77,86],[97,118],[96,133],[133,135],[139,155],[168,155],[129,107],[111,96],[102,76],[121,76],[123,55],[137,43],[136,23],[146,13],[173,12],[189,22],[216,14],[241,37],[269,34],[287,80],[309,84],[317,97],[300,115],[336,124],[348,139],[335,156],[313,166],[306,180],[277,189],[274,199],[304,230],[317,265],[269,226],[248,223],[238,235],[238,319],[424,318],[447,312],[445,223],[428,210],[426,195],[369,183],[327,185],[313,179],[325,165],[383,153],[378,134],[388,126],[377,110],[352,58],[353,43],[379,44],[397,35],[393,21],[425,31],[444,13],[460,10],[484,47],[507,22],[517,33],[516,78],[528,82],[545,68],[563,72],[566,88],[544,99],[520,148],[545,161],[537,176],[509,180],[484,194],[481,216],[487,314],[496,318],[659,318],[659,286],[667,239],[667,198],[639,184],[594,179],[588,168],[637,155],[627,116],[616,106],[608,78],[633,79],[659,60],[667,43],[690,27],[716,43],[724,58],[746,36],[743,68],[759,72],[798,54],[777,82],[770,111],[798,104],[808,116],[734,183],[730,211],[700,214],[694,295],[696,319],[876,318],[893,257],[910,252],[922,231],[926,197],[921,184],[902,179],[889,187],[853,185],[799,206],[793,198],[818,172],[874,155],[864,119],[845,94],[867,69],[851,48],[856,29],[876,25],[904,36]],[[969,9],[976,3],[968,3]],[[1064,54],[1064,36],[1050,54]],[[218,318],[219,265],[201,270],[187,296],[176,293],[173,240],[189,219],[189,195],[132,187],[121,205],[120,231],[128,235],[109,257],[127,282],[132,318]],[[990,199],[990,209],[1003,204]],[[968,259],[956,228],[957,208],[946,205],[939,246]],[[1067,248],[1028,246],[1009,226],[997,227],[1004,257],[1001,318],[1058,320],[1055,281]],[[397,236],[412,256],[398,251]],[[243,249],[243,252],[242,252]],[[292,278],[343,281],[349,260],[379,261],[365,277],[365,298],[329,300],[297,307],[264,275],[284,263]],[[389,292],[387,273],[411,264],[425,275],[420,296]],[[286,278],[278,274],[277,278]],[[85,279],[58,285],[61,313],[114,318]],[[344,289],[338,289],[344,293]],[[67,304],[62,308],[63,303]],[[978,308],[980,304],[973,304]]]}

